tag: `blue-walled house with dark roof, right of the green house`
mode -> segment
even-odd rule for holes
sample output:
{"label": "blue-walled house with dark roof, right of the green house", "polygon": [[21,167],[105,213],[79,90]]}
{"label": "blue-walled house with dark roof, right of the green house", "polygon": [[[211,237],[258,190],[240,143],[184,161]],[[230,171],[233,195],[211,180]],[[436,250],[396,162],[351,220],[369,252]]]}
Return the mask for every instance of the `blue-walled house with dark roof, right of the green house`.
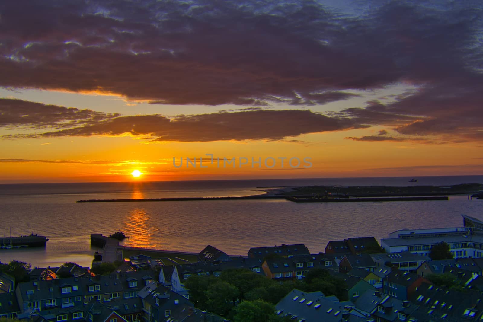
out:
{"label": "blue-walled house with dark roof, right of the green house", "polygon": [[393,270],[383,279],[383,292],[399,300],[407,300],[424,282],[430,283],[421,275]]}

